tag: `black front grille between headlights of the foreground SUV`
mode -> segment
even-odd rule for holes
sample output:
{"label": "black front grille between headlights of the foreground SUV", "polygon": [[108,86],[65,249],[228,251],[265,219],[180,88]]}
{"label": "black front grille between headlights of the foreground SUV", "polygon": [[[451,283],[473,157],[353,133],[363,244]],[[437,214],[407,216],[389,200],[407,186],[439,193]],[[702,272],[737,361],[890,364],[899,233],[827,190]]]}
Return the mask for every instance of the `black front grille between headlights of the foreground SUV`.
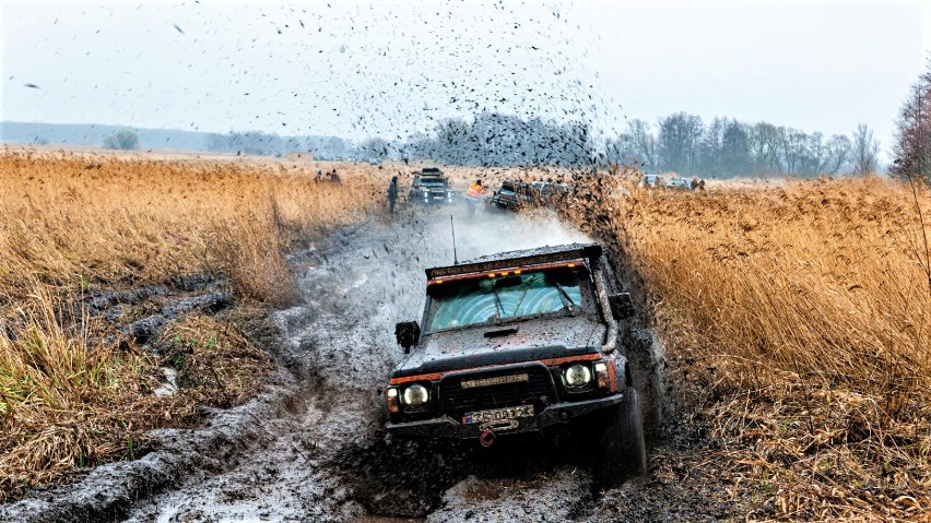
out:
{"label": "black front grille between headlights of the foreground SUV", "polygon": [[[507,378],[517,375],[527,375],[528,380],[512,381]],[[463,381],[494,383],[493,378],[497,377],[502,377],[504,382],[482,387],[462,387]],[[534,405],[535,411],[540,412],[546,405],[555,403],[554,399],[553,379],[543,365],[447,376],[439,382],[443,413],[453,419],[460,419],[464,413],[529,404]]]}

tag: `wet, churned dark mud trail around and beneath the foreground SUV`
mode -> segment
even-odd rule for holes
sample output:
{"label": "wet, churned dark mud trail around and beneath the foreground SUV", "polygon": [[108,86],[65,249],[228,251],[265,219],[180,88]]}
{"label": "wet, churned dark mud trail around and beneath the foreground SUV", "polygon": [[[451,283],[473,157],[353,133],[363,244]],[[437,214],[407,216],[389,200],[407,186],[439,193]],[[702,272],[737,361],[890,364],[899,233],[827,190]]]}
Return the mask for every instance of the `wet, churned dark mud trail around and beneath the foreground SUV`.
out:
{"label": "wet, churned dark mud trail around and beneath the foreground SUV", "polygon": [[[380,388],[403,356],[398,321],[420,319],[424,268],[453,260],[448,211],[370,221],[294,253],[303,302],[274,314],[280,371],[257,400],[195,431],[166,430],[157,452],[5,509],[3,521],[715,521],[729,513],[693,474],[696,438],[648,413],[651,472],[600,491],[586,449],[502,440],[409,452],[381,431]],[[459,260],[586,241],[554,216],[456,216]],[[635,377],[664,402],[659,345],[643,331]],[[637,356],[634,357],[635,361]],[[644,392],[641,392],[644,394]],[[650,395],[652,399],[650,400]],[[668,407],[667,407],[668,411]],[[662,463],[657,464],[657,455]],[[669,456],[674,461],[670,464]],[[4,512],[5,510],[5,512]]]}

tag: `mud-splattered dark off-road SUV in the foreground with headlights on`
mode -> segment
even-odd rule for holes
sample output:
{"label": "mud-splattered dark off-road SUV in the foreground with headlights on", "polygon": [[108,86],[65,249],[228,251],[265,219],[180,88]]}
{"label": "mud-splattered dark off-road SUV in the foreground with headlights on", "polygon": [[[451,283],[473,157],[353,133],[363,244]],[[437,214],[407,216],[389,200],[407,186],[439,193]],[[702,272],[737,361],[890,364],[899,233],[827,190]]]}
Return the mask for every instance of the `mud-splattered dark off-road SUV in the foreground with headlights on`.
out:
{"label": "mud-splattered dark off-road SUV in the foreground with headlights on", "polygon": [[385,389],[390,433],[491,447],[577,429],[597,445],[602,482],[645,469],[639,399],[617,346],[633,307],[601,246],[507,252],[426,275],[422,323],[396,326],[409,356]]}

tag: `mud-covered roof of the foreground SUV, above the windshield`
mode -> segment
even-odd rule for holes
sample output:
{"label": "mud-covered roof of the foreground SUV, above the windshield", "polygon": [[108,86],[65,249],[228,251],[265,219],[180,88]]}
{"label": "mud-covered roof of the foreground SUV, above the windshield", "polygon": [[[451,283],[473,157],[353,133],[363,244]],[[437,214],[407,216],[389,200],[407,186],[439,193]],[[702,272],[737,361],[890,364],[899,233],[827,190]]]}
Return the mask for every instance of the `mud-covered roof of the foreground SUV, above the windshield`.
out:
{"label": "mud-covered roof of the foreground SUV, above the windshield", "polygon": [[588,258],[597,260],[602,249],[598,243],[568,243],[562,246],[545,246],[533,249],[499,252],[462,262],[458,265],[431,268],[426,270],[427,278],[468,274],[473,272],[496,271],[538,263],[557,262]]}

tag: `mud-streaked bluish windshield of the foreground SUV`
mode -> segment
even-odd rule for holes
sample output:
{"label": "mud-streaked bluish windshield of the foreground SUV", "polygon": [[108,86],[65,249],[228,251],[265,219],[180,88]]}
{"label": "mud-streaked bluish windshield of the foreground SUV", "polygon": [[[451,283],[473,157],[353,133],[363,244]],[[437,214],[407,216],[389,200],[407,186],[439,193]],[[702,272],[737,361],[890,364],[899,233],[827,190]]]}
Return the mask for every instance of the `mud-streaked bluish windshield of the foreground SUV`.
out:
{"label": "mud-streaked bluish windshield of the foreground SUV", "polygon": [[592,299],[585,268],[445,282],[431,285],[429,295],[427,332],[539,314],[575,314],[589,309]]}

